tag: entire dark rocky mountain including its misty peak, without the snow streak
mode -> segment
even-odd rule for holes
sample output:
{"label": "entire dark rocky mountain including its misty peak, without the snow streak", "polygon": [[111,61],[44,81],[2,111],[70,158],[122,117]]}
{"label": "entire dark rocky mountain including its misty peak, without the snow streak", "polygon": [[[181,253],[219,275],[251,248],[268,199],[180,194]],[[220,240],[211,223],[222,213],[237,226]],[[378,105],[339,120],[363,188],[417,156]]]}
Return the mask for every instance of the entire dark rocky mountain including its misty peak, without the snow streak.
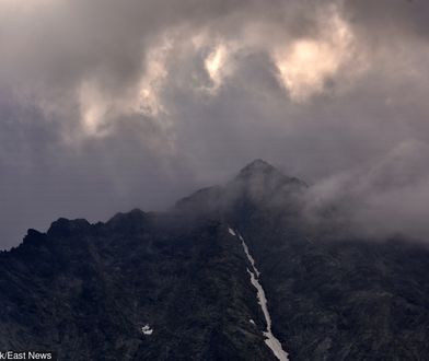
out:
{"label": "entire dark rocky mountain including its misty peak, without the snow streak", "polygon": [[60,360],[425,360],[429,252],[317,237],[306,185],[264,161],[169,212],[60,219],[0,254],[0,350]]}

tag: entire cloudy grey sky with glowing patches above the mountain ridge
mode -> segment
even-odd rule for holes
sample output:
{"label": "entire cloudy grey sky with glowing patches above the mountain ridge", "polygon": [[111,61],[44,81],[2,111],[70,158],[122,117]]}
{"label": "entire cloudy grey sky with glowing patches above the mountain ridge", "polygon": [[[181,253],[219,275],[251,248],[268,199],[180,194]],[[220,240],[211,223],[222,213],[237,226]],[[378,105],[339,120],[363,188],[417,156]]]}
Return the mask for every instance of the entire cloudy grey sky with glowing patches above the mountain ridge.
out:
{"label": "entire cloudy grey sky with glowing patches above the mountain ridge", "polygon": [[0,1],[0,246],[256,158],[357,229],[427,237],[428,19],[422,0]]}

